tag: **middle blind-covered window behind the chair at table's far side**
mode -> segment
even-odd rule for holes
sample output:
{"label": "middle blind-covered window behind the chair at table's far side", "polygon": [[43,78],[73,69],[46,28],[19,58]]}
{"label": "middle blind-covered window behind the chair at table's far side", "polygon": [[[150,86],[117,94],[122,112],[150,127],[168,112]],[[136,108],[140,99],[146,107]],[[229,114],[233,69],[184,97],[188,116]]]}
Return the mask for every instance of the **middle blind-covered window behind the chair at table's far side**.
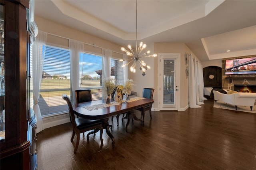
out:
{"label": "middle blind-covered window behind the chair at table's far side", "polygon": [[80,64],[80,89],[91,89],[92,100],[104,97],[104,69],[102,56],[84,53]]}

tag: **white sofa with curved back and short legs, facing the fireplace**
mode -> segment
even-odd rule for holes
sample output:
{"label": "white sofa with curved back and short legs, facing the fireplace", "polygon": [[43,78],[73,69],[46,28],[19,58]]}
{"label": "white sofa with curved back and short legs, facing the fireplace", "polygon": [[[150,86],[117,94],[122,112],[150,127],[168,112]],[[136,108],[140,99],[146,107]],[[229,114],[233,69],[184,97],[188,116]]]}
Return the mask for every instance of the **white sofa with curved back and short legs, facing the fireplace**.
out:
{"label": "white sofa with curved back and short legs, facing the fireplace", "polygon": [[237,106],[250,106],[252,110],[252,106],[255,104],[256,93],[233,93],[233,94],[224,94],[218,91],[213,90],[214,100],[215,102],[221,101],[225,103],[229,103],[231,105]]}

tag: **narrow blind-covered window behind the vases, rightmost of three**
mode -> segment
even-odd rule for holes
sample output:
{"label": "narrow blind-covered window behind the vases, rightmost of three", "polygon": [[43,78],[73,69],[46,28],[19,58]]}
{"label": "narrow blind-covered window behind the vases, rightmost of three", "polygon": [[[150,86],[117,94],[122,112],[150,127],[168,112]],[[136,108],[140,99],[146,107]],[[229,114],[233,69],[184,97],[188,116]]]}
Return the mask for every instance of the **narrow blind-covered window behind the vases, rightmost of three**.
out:
{"label": "narrow blind-covered window behind the vases, rightmost of three", "polygon": [[111,78],[116,85],[124,85],[124,68],[118,59],[111,59]]}

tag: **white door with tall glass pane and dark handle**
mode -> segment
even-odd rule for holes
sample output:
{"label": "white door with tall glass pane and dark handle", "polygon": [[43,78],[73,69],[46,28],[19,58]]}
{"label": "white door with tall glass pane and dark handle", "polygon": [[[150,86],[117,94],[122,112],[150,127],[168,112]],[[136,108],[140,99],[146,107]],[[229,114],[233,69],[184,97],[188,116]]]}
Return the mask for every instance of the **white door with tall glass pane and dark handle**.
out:
{"label": "white door with tall glass pane and dark handle", "polygon": [[160,54],[160,110],[178,110],[180,53]]}

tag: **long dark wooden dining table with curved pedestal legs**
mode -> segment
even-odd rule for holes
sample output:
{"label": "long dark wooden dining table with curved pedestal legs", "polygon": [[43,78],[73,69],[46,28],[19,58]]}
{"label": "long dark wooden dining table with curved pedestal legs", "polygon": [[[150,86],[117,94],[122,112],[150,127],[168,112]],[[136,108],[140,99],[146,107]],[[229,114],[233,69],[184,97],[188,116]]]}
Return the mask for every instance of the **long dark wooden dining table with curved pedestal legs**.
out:
{"label": "long dark wooden dining table with curved pedestal legs", "polygon": [[106,103],[106,100],[95,100],[95,101],[89,101],[89,102],[84,102],[84,103],[78,103],[73,106],[73,110],[74,110],[74,113],[78,117],[82,117],[85,119],[92,119],[92,120],[96,120],[96,119],[102,120],[103,128],[105,128],[106,133],[111,138],[112,144],[114,145],[115,139],[109,130],[109,127],[111,127],[111,130],[112,130],[112,125],[109,125],[108,118],[112,117],[114,115],[120,115],[123,113],[127,113],[126,117],[127,117],[128,121],[126,123],[126,128],[125,128],[125,130],[127,132],[127,127],[130,123],[130,119],[134,119],[136,121],[140,121],[141,123],[143,123],[143,121],[141,119],[138,119],[136,117],[136,115],[134,114],[134,110],[138,109],[140,107],[144,107],[146,105],[150,105],[150,104],[154,103],[154,100],[144,98],[144,99],[140,99],[137,101],[122,103],[119,105],[111,105],[109,107],[104,107],[104,108],[100,108],[100,109],[88,110],[85,108],[85,107],[89,107],[89,106],[100,105],[103,103]]}

